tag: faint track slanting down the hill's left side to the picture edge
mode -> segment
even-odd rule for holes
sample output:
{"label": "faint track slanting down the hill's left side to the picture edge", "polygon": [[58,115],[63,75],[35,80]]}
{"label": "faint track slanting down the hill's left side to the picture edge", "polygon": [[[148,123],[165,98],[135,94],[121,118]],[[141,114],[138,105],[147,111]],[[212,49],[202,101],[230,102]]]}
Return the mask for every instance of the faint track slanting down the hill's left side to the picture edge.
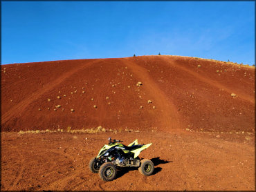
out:
{"label": "faint track slanting down the hill's left side to the picture edge", "polygon": [[1,116],[1,124],[5,124],[6,122],[8,122],[9,119],[11,119],[12,117],[14,117],[15,115],[19,114],[21,111],[23,111],[30,103],[34,102],[36,99],[38,99],[41,95],[43,95],[44,93],[46,93],[47,91],[53,89],[55,86],[59,85],[62,83],[62,81],[64,81],[65,79],[67,79],[68,77],[71,77],[71,75],[77,73],[77,71],[82,70],[84,68],[87,68],[89,66],[91,66],[92,64],[98,63],[100,62],[102,59],[97,59],[95,61],[91,61],[89,63],[86,64],[81,64],[80,67],[75,68],[74,70],[70,70],[67,73],[64,73],[62,76],[60,76],[58,79],[56,79],[55,81],[52,81],[51,84],[48,84],[47,86],[45,86],[44,88],[41,88],[39,90],[37,90],[37,92],[35,92],[33,95],[30,95],[29,97],[27,97],[26,99],[24,99],[23,101],[19,102],[19,104],[13,106],[12,108],[10,108],[9,111],[7,111],[6,113],[4,113]]}

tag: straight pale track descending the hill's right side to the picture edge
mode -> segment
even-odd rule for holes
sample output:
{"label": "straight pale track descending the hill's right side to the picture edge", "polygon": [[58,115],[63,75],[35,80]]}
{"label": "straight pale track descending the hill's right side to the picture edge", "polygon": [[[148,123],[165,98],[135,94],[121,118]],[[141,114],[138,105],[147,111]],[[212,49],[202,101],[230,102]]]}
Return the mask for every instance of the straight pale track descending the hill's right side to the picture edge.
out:
{"label": "straight pale track descending the hill's right side to the picture edge", "polygon": [[228,88],[226,86],[223,86],[218,81],[215,81],[213,79],[209,79],[208,77],[200,75],[199,73],[196,73],[193,70],[190,70],[190,69],[185,68],[183,66],[179,66],[179,64],[176,64],[175,61],[170,61],[169,58],[160,57],[160,59],[163,61],[163,64],[170,64],[170,65],[172,65],[172,66],[174,66],[176,68],[179,68],[180,70],[183,70],[186,73],[189,73],[190,75],[194,76],[196,79],[199,79],[199,80],[203,81],[205,84],[209,84],[210,86],[213,86],[213,87],[218,88],[218,89],[223,89],[223,91],[226,91],[226,93],[228,93],[228,94],[236,92],[238,97],[241,97],[241,99],[244,99],[247,102],[255,104],[255,98],[251,97],[250,95],[246,95],[244,93],[237,92],[237,90],[234,91],[234,90],[232,90],[232,89],[230,89],[230,88]]}

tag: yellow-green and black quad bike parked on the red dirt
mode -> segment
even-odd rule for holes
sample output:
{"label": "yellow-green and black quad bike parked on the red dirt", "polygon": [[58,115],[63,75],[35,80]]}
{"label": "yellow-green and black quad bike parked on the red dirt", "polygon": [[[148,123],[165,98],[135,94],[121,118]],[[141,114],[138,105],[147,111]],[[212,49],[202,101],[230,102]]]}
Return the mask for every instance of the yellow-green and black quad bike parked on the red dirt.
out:
{"label": "yellow-green and black quad bike parked on the red dirt", "polygon": [[93,157],[89,163],[92,173],[99,173],[104,181],[111,181],[116,177],[116,167],[135,166],[141,174],[149,176],[154,171],[154,164],[151,160],[140,160],[138,155],[141,151],[152,144],[138,144],[135,140],[128,146],[120,144],[120,140],[111,140],[100,149],[97,157]]}

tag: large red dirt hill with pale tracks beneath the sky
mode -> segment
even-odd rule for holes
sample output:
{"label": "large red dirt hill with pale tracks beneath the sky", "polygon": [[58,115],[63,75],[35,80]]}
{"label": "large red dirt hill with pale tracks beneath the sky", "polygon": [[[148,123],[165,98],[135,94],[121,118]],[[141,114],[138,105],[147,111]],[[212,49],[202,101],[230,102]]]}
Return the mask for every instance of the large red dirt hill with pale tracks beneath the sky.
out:
{"label": "large red dirt hill with pale tracks beneath the sky", "polygon": [[1,66],[1,131],[68,126],[254,131],[255,68],[163,55]]}

